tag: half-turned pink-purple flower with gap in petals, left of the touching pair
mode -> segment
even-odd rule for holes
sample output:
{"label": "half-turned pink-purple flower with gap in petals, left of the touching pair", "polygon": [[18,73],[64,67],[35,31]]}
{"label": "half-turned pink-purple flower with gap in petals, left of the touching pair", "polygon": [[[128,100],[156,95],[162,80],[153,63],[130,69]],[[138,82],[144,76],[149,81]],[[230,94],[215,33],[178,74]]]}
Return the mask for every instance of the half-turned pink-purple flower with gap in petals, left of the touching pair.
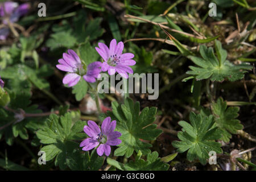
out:
{"label": "half-turned pink-purple flower with gap in petals, left of the touching pair", "polygon": [[61,71],[68,72],[63,78],[63,84],[68,86],[74,86],[79,82],[81,76],[87,82],[96,82],[96,78],[100,76],[101,62],[95,61],[88,64],[86,67],[72,49],[68,49],[68,53],[63,53],[63,58],[59,59],[59,63],[56,67]]}

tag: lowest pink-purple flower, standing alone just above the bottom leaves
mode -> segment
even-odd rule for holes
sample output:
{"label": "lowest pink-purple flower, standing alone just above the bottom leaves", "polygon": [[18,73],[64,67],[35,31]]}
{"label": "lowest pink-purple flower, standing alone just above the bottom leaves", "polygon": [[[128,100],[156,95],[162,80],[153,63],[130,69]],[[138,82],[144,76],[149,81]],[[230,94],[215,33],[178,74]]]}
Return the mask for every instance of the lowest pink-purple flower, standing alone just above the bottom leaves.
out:
{"label": "lowest pink-purple flower, standing alone just above the bottom leaves", "polygon": [[122,142],[121,133],[114,131],[117,122],[114,120],[111,122],[111,118],[107,117],[104,119],[100,127],[94,121],[88,121],[88,126],[84,126],[84,132],[89,136],[80,143],[82,150],[88,151],[92,148],[97,147],[97,154],[102,156],[104,153],[109,156],[111,148],[110,146],[117,146]]}

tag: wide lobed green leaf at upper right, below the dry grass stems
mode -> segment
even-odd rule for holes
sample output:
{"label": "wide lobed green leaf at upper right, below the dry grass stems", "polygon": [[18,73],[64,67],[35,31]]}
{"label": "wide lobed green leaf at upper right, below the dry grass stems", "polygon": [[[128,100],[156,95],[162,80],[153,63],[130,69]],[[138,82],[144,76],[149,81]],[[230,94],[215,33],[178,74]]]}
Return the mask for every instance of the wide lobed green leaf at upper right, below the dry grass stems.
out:
{"label": "wide lobed green leaf at upper right, below the dry grass stems", "polygon": [[196,80],[203,80],[210,78],[212,81],[229,81],[241,80],[247,70],[251,70],[251,65],[242,63],[240,65],[234,65],[226,60],[227,52],[222,49],[221,43],[216,40],[215,48],[218,59],[214,55],[213,48],[207,48],[206,46],[200,46],[200,55],[203,58],[196,56],[188,56],[199,67],[190,66],[191,71],[187,73],[195,76]]}

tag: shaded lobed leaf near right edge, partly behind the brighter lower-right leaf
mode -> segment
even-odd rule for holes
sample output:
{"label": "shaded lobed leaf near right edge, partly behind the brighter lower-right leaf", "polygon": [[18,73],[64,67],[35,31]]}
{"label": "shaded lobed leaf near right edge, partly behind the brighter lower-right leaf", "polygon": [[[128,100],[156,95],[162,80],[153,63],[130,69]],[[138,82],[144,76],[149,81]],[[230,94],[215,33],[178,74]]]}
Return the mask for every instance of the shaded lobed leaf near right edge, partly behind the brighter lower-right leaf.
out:
{"label": "shaded lobed leaf near right edge, partly behind the brighter lower-right leaf", "polygon": [[215,118],[216,126],[222,131],[222,140],[229,142],[231,134],[237,134],[237,130],[242,130],[243,125],[238,119],[239,107],[227,107],[226,101],[220,97],[212,105],[212,112]]}

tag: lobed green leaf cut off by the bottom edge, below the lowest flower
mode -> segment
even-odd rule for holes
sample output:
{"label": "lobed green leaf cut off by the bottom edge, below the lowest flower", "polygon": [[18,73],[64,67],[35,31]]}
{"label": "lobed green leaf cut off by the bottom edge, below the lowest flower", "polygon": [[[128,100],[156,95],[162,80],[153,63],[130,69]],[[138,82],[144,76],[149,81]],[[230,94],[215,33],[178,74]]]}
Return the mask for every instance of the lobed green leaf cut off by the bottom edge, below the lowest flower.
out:
{"label": "lobed green leaf cut off by the bottom edge, below the lowest flower", "polygon": [[127,164],[122,164],[114,159],[107,158],[108,164],[122,171],[167,171],[169,165],[163,163],[158,157],[158,152],[154,151],[147,154],[147,160],[141,159],[141,151],[138,152],[134,161],[130,160]]}

